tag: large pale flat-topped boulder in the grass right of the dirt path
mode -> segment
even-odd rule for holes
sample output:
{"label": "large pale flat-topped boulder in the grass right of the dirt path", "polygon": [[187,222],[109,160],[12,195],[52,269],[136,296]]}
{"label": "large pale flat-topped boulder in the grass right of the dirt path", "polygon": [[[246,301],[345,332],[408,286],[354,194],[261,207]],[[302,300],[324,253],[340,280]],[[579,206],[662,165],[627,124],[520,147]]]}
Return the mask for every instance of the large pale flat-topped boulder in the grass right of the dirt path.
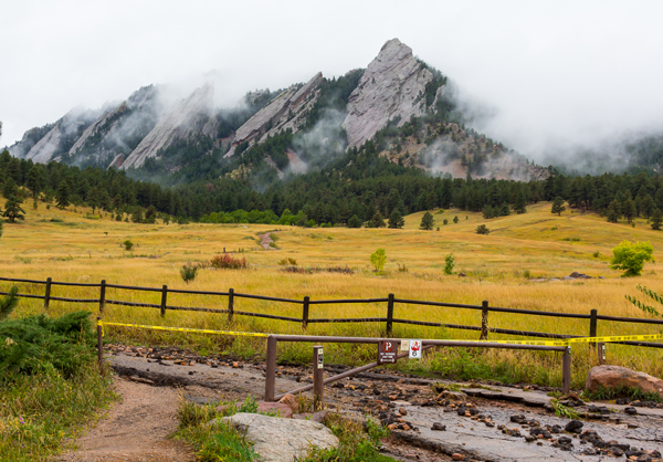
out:
{"label": "large pale flat-topped boulder in the grass right of the dirt path", "polygon": [[222,421],[232,424],[253,443],[264,462],[293,462],[306,455],[312,445],[338,447],[338,438],[327,427],[311,420],[280,419],[259,413],[235,413]]}

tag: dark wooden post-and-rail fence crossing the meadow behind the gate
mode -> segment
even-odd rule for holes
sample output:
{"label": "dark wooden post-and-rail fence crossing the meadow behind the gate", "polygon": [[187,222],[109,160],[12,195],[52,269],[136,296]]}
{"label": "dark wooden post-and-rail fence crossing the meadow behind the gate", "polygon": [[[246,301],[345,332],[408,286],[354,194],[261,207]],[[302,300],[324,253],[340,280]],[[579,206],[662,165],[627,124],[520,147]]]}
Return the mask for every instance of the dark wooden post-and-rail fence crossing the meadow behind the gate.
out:
{"label": "dark wooden post-and-rail fence crossing the meadow behind the gate", "polygon": [[[490,306],[488,302],[484,301],[481,305],[470,305],[470,304],[461,304],[461,303],[446,303],[446,302],[433,302],[433,301],[421,301],[421,300],[408,300],[408,298],[397,298],[393,294],[389,294],[387,297],[377,297],[377,298],[341,298],[341,300],[311,300],[311,297],[305,296],[303,300],[295,298],[284,298],[284,297],[274,297],[274,296],[265,296],[265,295],[255,295],[255,294],[244,294],[234,292],[233,288],[229,288],[228,292],[217,292],[217,291],[192,291],[192,290],[183,290],[183,288],[168,288],[167,285],[159,287],[141,287],[134,285],[122,285],[122,284],[108,284],[106,281],[101,281],[101,283],[73,283],[73,282],[57,282],[53,281],[51,277],[48,277],[45,281],[38,280],[29,280],[29,279],[14,279],[14,277],[0,277],[0,281],[6,281],[10,283],[27,283],[27,284],[41,284],[44,285],[44,295],[36,294],[25,294],[19,293],[18,296],[24,298],[36,298],[44,301],[44,308],[49,308],[51,301],[56,302],[65,302],[65,303],[90,303],[90,304],[98,304],[99,314],[104,312],[106,305],[122,305],[122,306],[130,306],[130,307],[144,307],[144,308],[156,308],[160,309],[161,316],[166,315],[167,311],[189,311],[189,312],[201,312],[201,313],[217,313],[217,314],[225,314],[228,315],[228,319],[232,321],[233,316],[252,316],[260,317],[265,319],[276,319],[284,321],[291,323],[301,323],[302,328],[306,330],[308,324],[341,324],[341,323],[385,323],[386,324],[386,333],[387,335],[391,335],[393,330],[393,324],[406,324],[406,325],[415,325],[415,326],[429,326],[429,327],[443,327],[450,329],[460,329],[460,330],[475,330],[481,333],[480,339],[487,339],[488,334],[503,334],[503,335],[516,335],[524,337],[539,337],[539,338],[575,338],[580,337],[579,335],[566,335],[566,334],[555,334],[555,333],[545,333],[545,332],[532,332],[532,330],[518,330],[518,329],[505,329],[498,327],[490,327],[488,326],[488,314],[493,313],[509,313],[509,314],[519,314],[519,315],[532,315],[532,316],[551,316],[559,318],[575,318],[575,319],[588,319],[589,321],[589,337],[597,337],[597,327],[598,322],[617,322],[617,323],[632,323],[632,324],[649,324],[649,325],[663,325],[663,319],[650,319],[650,318],[640,318],[640,317],[620,317],[620,316],[607,316],[599,315],[597,309],[592,309],[590,314],[581,314],[581,313],[555,313],[555,312],[539,312],[536,309],[520,309],[520,308],[505,308],[498,306]],[[53,286],[72,286],[72,287],[91,287],[99,290],[98,298],[73,298],[73,297],[60,297],[51,294]],[[161,294],[161,302],[159,304],[156,303],[137,303],[137,302],[128,302],[128,301],[119,301],[119,300],[108,300],[106,298],[106,288],[115,288],[120,291],[139,291],[139,292],[152,292]],[[0,292],[0,295],[7,295],[8,292]],[[185,295],[207,295],[207,296],[221,296],[228,298],[228,308],[208,308],[208,307],[194,307],[194,306],[175,306],[168,304],[168,294],[185,294]],[[276,302],[276,303],[287,303],[302,305],[302,317],[293,317],[293,316],[281,316],[274,314],[266,313],[254,313],[246,311],[238,311],[235,309],[235,300],[236,298],[249,298],[249,300],[259,300],[266,302]],[[347,317],[347,318],[323,318],[323,317],[311,317],[311,306],[312,305],[340,305],[340,304],[371,304],[371,303],[387,303],[387,313],[386,316],[372,316],[372,317]],[[460,309],[474,309],[481,311],[482,314],[482,323],[481,326],[466,326],[460,324],[445,324],[445,323],[435,323],[430,321],[419,321],[419,319],[404,319],[397,318],[393,316],[393,311],[396,304],[401,305],[418,305],[418,306],[438,306],[444,308],[460,308]],[[630,346],[639,346],[639,347],[650,347],[650,348],[663,348],[663,344],[660,343],[651,343],[651,342],[615,342],[615,344],[620,345],[630,345]],[[596,347],[596,344],[590,344],[592,347]]]}

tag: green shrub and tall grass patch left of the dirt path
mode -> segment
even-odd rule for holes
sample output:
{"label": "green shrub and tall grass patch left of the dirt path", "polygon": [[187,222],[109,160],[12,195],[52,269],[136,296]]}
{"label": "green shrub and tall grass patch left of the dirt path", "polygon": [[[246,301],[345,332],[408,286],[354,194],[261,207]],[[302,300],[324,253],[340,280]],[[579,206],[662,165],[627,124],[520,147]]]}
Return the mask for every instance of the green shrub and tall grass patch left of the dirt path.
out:
{"label": "green shrub and tall grass patch left of the dirt path", "polygon": [[114,399],[90,313],[0,322],[0,459],[45,460]]}

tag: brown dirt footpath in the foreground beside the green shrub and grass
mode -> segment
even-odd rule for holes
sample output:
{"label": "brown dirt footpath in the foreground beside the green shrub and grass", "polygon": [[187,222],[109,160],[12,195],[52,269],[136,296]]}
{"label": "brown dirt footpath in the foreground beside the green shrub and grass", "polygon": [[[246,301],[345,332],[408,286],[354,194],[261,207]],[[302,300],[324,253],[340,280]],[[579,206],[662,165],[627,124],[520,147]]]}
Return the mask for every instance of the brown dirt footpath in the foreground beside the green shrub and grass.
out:
{"label": "brown dirt footpath in the foreground beside the green shrub and grass", "polygon": [[186,445],[168,439],[177,428],[177,407],[180,393],[170,387],[115,378],[116,392],[122,400],[95,428],[76,441],[78,449],[56,461],[91,462],[170,462],[194,461]]}

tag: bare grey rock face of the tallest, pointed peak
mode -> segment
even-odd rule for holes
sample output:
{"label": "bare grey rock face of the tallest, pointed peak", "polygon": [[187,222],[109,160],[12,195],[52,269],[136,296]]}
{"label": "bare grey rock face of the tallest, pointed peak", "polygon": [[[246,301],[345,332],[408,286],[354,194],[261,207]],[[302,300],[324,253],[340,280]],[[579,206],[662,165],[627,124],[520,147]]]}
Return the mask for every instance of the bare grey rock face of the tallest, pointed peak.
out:
{"label": "bare grey rock face of the tallest, pointed peak", "polygon": [[412,55],[412,49],[392,39],[366,69],[350,94],[343,127],[348,146],[361,146],[387,123],[400,116],[399,126],[425,111],[425,85],[433,74]]}

